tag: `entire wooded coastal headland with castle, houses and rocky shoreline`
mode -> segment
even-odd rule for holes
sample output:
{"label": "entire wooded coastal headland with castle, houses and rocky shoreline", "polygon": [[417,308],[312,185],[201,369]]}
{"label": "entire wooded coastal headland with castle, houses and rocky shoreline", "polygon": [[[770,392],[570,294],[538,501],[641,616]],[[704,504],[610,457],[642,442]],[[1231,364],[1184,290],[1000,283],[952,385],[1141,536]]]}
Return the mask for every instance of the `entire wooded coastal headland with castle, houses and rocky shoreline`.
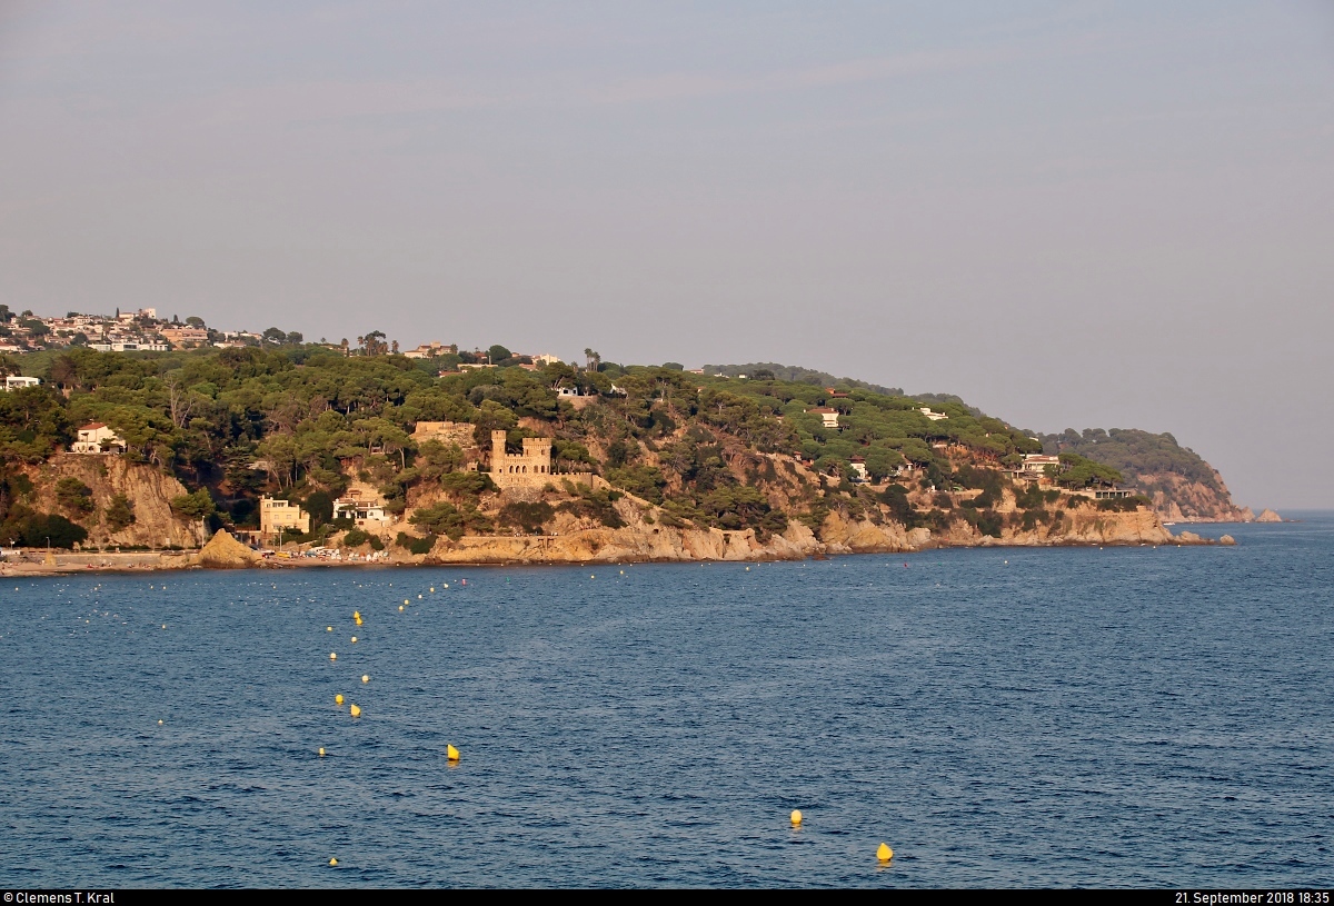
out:
{"label": "entire wooded coastal headland with castle, houses and rocky shoreline", "polygon": [[152,310],[0,306],[0,330],[9,570],[1170,544],[1201,539],[1165,522],[1254,518],[1170,434],[1034,434],[775,363],[399,351]]}

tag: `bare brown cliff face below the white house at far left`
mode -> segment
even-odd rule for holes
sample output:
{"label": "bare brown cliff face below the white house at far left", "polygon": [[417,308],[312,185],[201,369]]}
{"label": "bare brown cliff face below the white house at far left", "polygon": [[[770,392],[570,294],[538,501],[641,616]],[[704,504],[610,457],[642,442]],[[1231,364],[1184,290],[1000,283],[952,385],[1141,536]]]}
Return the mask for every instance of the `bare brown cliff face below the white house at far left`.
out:
{"label": "bare brown cliff face below the white house at far left", "polygon": [[[171,475],[129,463],[120,456],[57,455],[40,467],[27,467],[35,486],[31,502],[43,512],[60,512],[88,530],[88,544],[100,547],[199,547],[203,543],[199,523],[177,519],[171,499],[185,494],[185,486]],[[56,482],[72,476],[92,488],[95,510],[88,516],[69,514],[56,502]],[[111,498],[124,494],[135,507],[135,522],[112,532],[101,514]]]}

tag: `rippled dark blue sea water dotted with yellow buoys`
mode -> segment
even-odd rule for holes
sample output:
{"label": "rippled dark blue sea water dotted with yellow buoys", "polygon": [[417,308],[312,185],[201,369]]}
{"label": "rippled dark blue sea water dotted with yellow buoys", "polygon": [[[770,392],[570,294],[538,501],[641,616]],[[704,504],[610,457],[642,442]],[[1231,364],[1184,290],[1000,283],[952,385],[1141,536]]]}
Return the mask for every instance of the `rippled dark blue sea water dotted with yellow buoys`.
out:
{"label": "rippled dark blue sea water dotted with yellow buoys", "polygon": [[1329,887],[1334,515],[1197,530],[11,579],[0,886]]}

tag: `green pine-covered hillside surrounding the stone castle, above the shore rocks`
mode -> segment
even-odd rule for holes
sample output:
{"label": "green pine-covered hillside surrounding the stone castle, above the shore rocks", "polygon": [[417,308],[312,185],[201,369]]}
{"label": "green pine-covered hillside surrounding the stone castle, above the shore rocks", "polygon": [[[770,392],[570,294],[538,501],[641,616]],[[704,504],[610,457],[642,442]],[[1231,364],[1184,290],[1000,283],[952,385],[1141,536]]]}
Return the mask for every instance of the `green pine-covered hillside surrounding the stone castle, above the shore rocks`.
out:
{"label": "green pine-covered hillside surrounding the stone castle, above the shore rocks", "polygon": [[[49,535],[52,520],[75,526],[57,532],[75,540],[133,520],[133,500],[99,491],[105,503],[96,503],[72,474],[60,488],[43,486],[40,499],[55,500],[55,511],[37,508],[33,470],[89,422],[124,439],[124,462],[184,484],[171,500],[181,520],[253,527],[257,498],[273,494],[301,502],[327,536],[332,499],[356,484],[404,515],[422,543],[540,531],[558,518],[615,526],[614,504],[627,492],[667,526],[752,528],[759,538],[792,519],[816,528],[831,511],[907,527],[962,519],[999,535],[1009,516],[992,511],[1003,502],[998,470],[1042,447],[962,402],[931,402],[947,416],[932,420],[922,399],[764,374],[743,380],[596,360],[440,374],[439,362],[292,344],[73,348],[21,363],[45,383],[0,394],[0,540],[8,542]],[[815,408],[834,410],[838,426]],[[472,443],[419,440],[419,422],[471,424]],[[558,474],[546,495],[494,494],[492,430],[504,430],[511,448],[526,436],[552,439]],[[1111,475],[1067,459],[1067,479]],[[560,482],[559,472],[590,471],[604,479],[596,490]]]}

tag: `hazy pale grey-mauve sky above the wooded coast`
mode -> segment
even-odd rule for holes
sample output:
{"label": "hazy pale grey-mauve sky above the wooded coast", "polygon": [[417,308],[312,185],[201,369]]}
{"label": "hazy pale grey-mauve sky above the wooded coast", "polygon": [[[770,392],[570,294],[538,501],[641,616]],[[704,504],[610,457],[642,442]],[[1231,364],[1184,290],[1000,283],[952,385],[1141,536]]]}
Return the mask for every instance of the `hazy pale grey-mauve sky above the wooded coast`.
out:
{"label": "hazy pale grey-mauve sky above the wooded coast", "polygon": [[1334,4],[3,3],[0,302],[775,360],[1334,506]]}

